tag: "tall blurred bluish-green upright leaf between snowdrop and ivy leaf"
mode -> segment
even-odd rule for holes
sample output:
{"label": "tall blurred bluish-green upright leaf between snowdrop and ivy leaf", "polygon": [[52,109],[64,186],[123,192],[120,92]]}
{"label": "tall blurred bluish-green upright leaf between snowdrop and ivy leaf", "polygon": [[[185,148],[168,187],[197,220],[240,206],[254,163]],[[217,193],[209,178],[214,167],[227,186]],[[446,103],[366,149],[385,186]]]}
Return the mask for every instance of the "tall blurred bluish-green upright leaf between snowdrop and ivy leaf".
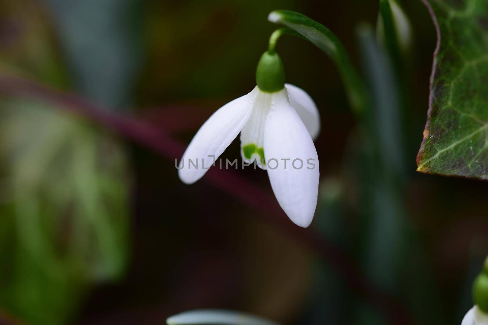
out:
{"label": "tall blurred bluish-green upright leaf between snowdrop and ivy leaf", "polygon": [[400,98],[391,63],[378,46],[371,27],[361,26],[359,39],[373,105],[367,115],[370,148],[366,150],[369,163],[365,191],[369,223],[365,245],[366,274],[376,286],[395,292],[398,289],[398,262],[404,253],[406,217],[402,202],[403,182],[400,182],[403,171]]}

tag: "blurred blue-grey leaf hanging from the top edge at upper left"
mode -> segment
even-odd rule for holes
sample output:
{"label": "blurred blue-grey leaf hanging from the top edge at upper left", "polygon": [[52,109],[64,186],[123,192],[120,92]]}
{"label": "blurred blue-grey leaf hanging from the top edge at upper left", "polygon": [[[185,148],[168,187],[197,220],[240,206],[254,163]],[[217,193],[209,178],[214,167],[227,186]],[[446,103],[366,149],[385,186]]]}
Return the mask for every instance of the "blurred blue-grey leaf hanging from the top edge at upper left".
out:
{"label": "blurred blue-grey leaf hanging from the top edge at upper left", "polygon": [[127,105],[142,46],[134,0],[48,0],[61,46],[79,91],[91,100]]}

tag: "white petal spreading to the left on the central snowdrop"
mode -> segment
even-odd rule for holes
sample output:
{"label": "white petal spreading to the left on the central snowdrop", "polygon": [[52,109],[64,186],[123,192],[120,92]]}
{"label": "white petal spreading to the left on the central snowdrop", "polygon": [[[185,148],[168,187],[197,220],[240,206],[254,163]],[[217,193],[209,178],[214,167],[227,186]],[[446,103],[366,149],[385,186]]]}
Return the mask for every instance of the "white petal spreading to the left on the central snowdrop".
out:
{"label": "white petal spreading to the left on the central snowdrop", "polygon": [[[192,184],[199,180],[213,165],[214,159],[219,158],[241,132],[251,114],[259,91],[256,89],[257,87],[249,94],[225,104],[203,123],[180,161],[178,175],[183,183]],[[190,164],[190,160],[193,164]]]}

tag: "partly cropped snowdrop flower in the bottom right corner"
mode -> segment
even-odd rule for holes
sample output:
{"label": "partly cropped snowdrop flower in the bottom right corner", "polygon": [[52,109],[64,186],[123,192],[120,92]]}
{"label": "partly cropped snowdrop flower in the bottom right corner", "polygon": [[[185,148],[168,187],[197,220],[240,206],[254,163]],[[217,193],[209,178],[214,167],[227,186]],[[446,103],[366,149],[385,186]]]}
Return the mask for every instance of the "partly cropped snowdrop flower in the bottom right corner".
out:
{"label": "partly cropped snowdrop flower in the bottom right corner", "polygon": [[488,325],[488,258],[473,285],[474,307],[469,309],[461,325]]}

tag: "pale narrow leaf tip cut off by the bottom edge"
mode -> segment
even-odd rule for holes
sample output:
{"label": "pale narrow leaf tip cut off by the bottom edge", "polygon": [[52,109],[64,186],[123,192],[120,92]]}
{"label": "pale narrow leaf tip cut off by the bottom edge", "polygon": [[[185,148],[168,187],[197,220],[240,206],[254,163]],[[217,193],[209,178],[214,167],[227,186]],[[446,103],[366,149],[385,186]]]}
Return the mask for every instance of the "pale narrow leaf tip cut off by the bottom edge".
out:
{"label": "pale narrow leaf tip cut off by the bottom edge", "polygon": [[196,309],[169,317],[168,325],[278,325],[254,315],[232,310]]}

